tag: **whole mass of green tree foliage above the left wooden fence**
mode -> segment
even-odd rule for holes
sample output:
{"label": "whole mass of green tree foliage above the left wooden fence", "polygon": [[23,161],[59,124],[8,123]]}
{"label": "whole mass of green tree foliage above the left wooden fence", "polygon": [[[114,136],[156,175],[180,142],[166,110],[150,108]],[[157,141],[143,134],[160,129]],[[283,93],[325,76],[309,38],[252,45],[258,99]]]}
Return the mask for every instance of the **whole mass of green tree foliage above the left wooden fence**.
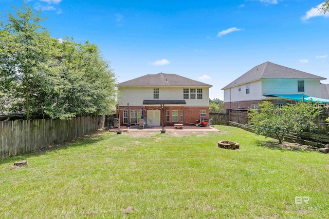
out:
{"label": "whole mass of green tree foliage above the left wooden fence", "polygon": [[0,22],[0,111],[23,112],[27,119],[111,111],[116,78],[98,46],[52,38],[40,11],[24,2],[14,10]]}

